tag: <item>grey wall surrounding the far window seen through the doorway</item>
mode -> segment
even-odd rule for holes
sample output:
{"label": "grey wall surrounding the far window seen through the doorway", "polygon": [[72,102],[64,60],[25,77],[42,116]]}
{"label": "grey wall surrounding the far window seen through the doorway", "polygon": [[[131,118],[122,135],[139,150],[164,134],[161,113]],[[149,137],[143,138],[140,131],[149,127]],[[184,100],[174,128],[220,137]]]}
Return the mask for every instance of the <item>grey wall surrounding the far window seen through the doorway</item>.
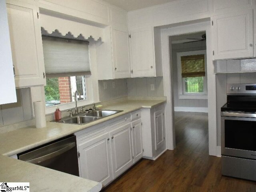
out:
{"label": "grey wall surrounding the far window seen through the doorway", "polygon": [[[171,37],[170,37],[171,38]],[[173,91],[174,91],[174,110],[176,107],[201,107],[207,108],[208,101],[207,99],[179,99],[178,98],[178,67],[177,67],[177,52],[187,52],[187,51],[196,51],[196,50],[206,50],[206,42],[192,42],[192,43],[181,43],[181,44],[172,44],[172,47],[169,49],[170,55],[172,54],[173,62]]]}

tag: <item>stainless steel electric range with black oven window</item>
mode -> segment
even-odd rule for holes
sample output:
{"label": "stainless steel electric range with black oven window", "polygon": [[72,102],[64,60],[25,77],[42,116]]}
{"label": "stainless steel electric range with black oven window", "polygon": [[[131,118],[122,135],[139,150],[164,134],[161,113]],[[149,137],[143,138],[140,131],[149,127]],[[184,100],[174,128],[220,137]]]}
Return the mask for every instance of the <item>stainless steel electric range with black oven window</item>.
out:
{"label": "stainless steel electric range with black oven window", "polygon": [[256,181],[256,84],[228,84],[221,108],[222,175]]}

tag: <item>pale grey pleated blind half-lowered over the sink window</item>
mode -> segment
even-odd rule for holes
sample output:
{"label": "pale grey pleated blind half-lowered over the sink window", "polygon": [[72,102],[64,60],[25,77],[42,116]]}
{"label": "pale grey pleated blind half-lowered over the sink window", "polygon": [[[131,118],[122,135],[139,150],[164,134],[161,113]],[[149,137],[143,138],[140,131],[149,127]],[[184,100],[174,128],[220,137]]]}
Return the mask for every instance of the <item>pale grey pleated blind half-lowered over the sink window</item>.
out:
{"label": "pale grey pleated blind half-lowered over the sink window", "polygon": [[47,78],[90,75],[88,41],[42,36]]}

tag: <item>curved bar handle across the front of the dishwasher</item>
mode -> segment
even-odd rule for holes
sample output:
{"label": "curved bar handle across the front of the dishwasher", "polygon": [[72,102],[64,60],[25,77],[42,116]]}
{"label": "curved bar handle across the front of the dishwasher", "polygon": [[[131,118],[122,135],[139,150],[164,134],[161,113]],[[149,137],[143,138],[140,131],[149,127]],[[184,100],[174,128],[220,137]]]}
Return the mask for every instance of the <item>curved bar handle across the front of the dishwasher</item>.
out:
{"label": "curved bar handle across the front of the dishwasher", "polygon": [[41,157],[38,157],[38,158],[34,158],[32,160],[28,160],[26,162],[29,162],[29,163],[33,163],[33,164],[38,164],[40,162],[44,162],[48,159],[51,159],[51,158],[54,158],[60,154],[63,154],[64,152],[67,152],[68,150],[72,149],[73,147],[76,146],[76,143],[75,142],[72,142],[70,144],[68,144],[67,146],[64,146],[63,148],[59,149],[59,150],[56,150],[50,154],[47,154],[47,155],[44,155],[44,156],[41,156]]}

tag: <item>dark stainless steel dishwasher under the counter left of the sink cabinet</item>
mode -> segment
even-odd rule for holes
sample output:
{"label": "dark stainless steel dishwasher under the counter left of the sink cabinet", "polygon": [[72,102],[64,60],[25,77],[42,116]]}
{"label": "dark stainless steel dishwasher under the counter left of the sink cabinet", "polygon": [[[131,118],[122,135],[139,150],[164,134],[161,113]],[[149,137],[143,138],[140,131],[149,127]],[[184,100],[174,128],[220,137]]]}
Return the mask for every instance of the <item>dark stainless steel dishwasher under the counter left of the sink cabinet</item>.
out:
{"label": "dark stainless steel dishwasher under the counter left of the sink cabinet", "polygon": [[79,176],[74,135],[20,153],[18,159]]}

